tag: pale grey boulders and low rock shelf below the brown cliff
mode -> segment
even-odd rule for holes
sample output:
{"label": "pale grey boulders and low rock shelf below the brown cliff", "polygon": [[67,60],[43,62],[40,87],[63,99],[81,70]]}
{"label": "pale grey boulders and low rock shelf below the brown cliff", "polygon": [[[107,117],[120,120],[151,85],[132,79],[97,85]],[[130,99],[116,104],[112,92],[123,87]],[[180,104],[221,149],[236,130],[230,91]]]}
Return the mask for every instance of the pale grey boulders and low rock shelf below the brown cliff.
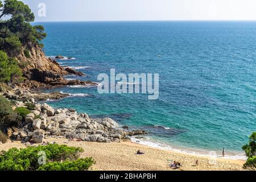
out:
{"label": "pale grey boulders and low rock shelf below the brown cliff", "polygon": [[90,118],[88,114],[77,113],[75,109],[53,109],[42,102],[47,99],[58,100],[67,97],[67,94],[40,93],[15,87],[2,95],[15,103],[13,109],[26,107],[27,104],[34,105],[34,110],[24,117],[19,126],[7,129],[11,140],[21,141],[26,146],[43,143],[47,138],[110,143],[147,134],[144,130],[130,131],[111,118]]}

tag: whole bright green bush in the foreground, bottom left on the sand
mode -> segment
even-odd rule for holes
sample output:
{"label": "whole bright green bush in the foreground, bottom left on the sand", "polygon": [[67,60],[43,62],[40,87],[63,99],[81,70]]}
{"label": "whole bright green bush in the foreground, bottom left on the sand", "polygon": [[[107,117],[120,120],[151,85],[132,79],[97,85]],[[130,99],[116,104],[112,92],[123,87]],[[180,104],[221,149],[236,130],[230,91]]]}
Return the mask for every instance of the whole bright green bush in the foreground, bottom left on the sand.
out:
{"label": "whole bright green bush in the foreground, bottom left on the sand", "polygon": [[[20,150],[11,148],[0,154],[0,171],[88,170],[95,162],[92,158],[78,159],[82,151],[82,148],[58,144],[28,147]],[[42,152],[46,154],[46,164],[40,166],[38,160],[42,156]]]}

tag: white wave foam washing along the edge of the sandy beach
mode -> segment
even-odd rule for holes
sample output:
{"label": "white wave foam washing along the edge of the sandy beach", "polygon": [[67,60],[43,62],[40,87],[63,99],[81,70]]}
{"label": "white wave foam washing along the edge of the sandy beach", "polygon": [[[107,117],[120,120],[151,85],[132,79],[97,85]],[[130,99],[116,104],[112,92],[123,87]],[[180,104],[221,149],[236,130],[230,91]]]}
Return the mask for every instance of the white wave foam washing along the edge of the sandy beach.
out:
{"label": "white wave foam washing along the edge of the sandy beach", "polygon": [[[207,156],[207,157],[214,157],[214,158],[220,157],[220,155],[213,156],[213,155],[207,154],[209,152],[207,150],[205,150],[205,151],[203,151],[203,150],[202,151],[195,151],[195,150],[189,149],[189,148],[186,148],[186,149],[175,148],[175,147],[172,147],[168,144],[152,140],[148,137],[145,137],[143,139],[138,139],[138,138],[135,138],[135,137],[131,137],[131,142],[142,144],[144,146],[160,148],[160,149],[163,149],[163,150],[171,150],[171,151],[175,151],[175,152],[179,152],[179,153],[183,153],[183,154],[196,155],[196,156]],[[241,153],[241,154],[226,155],[224,159],[246,160],[247,158],[243,153]]]}

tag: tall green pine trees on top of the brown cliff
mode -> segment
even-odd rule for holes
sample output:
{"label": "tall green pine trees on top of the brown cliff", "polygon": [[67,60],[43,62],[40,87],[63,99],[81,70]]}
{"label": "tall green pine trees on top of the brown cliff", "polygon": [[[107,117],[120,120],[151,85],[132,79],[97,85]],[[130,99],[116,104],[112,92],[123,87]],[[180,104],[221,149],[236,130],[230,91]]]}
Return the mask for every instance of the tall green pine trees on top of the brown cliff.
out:
{"label": "tall green pine trees on top of the brown cliff", "polygon": [[[1,1],[0,1],[1,2]],[[35,19],[34,13],[22,1],[5,0],[0,4],[0,49],[9,56],[15,57],[21,53],[21,47],[31,48],[46,38],[44,27],[32,26],[30,22]],[[5,20],[1,18],[5,16]],[[7,19],[7,20],[6,20]],[[27,53],[25,53],[28,56]]]}

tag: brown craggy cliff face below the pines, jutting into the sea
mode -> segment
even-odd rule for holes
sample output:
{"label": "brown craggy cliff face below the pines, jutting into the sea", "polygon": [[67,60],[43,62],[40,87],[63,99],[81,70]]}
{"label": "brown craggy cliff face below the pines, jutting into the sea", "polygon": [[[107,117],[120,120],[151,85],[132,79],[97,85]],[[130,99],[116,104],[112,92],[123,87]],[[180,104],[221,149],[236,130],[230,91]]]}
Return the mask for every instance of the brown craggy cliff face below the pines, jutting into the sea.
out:
{"label": "brown craggy cliff face below the pines, jutting into the sea", "polygon": [[18,59],[23,76],[26,78],[21,84],[30,88],[46,88],[47,86],[61,85],[86,85],[96,84],[90,81],[65,80],[63,76],[74,74],[82,76],[81,72],[76,72],[69,68],[65,71],[55,60],[47,58],[39,47],[30,49],[30,56],[26,56],[24,48],[22,53],[16,57]]}

